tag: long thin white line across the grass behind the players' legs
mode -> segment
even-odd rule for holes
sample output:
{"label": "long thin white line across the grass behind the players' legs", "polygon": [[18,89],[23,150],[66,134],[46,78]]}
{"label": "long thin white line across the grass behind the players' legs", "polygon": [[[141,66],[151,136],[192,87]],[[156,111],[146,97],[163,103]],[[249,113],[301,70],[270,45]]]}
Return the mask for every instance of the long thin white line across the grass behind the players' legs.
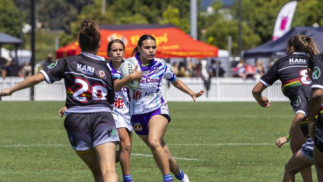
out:
{"label": "long thin white line across the grass behind the players' legs", "polygon": [[[188,144],[167,144],[168,146],[248,146],[248,145],[275,145],[274,143],[188,143]],[[0,145],[0,147],[61,147],[70,146],[69,144],[16,144],[16,145]],[[145,146],[145,144],[133,145]]]}

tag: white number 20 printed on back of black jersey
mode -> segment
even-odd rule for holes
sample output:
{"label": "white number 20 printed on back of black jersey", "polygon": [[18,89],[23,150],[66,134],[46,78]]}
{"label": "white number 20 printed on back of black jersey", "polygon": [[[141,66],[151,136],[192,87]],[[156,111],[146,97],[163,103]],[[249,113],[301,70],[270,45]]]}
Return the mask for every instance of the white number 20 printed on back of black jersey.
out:
{"label": "white number 20 printed on back of black jersey", "polygon": [[103,85],[94,84],[90,86],[89,83],[82,78],[76,78],[74,82],[75,85],[79,85],[80,88],[73,93],[73,99],[80,102],[87,102],[89,97],[91,97],[92,100],[106,100],[108,91]]}

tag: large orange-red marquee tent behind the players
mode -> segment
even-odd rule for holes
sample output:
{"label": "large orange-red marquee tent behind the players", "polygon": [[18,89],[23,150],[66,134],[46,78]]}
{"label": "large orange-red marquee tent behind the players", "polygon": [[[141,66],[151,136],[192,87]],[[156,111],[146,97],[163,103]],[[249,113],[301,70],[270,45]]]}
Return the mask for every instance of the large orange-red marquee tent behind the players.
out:
{"label": "large orange-red marquee tent behind the players", "polygon": [[[151,34],[156,38],[157,55],[159,58],[171,57],[217,57],[218,48],[209,44],[194,40],[185,32],[173,25],[101,25],[101,46],[97,55],[107,58],[107,45],[110,40],[120,39],[125,43],[125,57],[131,57],[134,47],[137,46],[139,37],[143,34]],[[56,58],[77,55],[81,49],[77,41],[56,50]]]}

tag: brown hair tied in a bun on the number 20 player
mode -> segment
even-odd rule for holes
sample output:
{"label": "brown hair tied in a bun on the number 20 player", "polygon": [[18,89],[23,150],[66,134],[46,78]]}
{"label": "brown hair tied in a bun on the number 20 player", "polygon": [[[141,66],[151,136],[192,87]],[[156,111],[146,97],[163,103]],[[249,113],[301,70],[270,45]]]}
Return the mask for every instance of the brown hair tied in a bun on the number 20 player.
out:
{"label": "brown hair tied in a bun on the number 20 player", "polygon": [[93,52],[99,47],[100,42],[99,26],[90,18],[85,18],[81,22],[79,33],[79,44],[82,51]]}

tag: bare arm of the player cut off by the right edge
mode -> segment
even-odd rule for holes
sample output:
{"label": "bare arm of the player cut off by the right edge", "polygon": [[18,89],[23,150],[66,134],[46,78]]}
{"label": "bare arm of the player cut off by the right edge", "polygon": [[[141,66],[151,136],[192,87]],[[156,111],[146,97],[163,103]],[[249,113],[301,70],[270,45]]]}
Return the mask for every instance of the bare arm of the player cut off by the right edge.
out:
{"label": "bare arm of the player cut off by the right edge", "polygon": [[313,88],[310,98],[310,108],[309,108],[309,134],[312,139],[314,139],[314,126],[316,124],[315,116],[320,110],[320,106],[323,101],[323,90]]}

